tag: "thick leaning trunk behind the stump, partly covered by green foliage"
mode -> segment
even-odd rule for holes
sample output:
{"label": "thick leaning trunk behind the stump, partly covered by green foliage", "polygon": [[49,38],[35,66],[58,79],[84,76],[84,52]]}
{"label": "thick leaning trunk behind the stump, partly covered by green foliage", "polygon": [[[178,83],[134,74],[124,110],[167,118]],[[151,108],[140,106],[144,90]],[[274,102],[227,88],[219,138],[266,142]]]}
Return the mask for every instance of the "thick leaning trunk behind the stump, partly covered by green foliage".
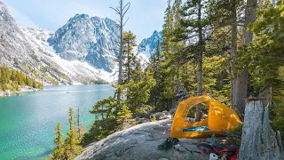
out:
{"label": "thick leaning trunk behind the stump, partly covered by green foliage", "polygon": [[[244,45],[248,44],[253,39],[253,34],[248,32],[248,24],[256,21],[256,5],[257,0],[248,0],[245,13],[245,28],[244,28]],[[239,113],[243,114],[245,102],[241,99],[248,97],[248,64],[239,70],[237,74],[234,108],[237,108]]]}

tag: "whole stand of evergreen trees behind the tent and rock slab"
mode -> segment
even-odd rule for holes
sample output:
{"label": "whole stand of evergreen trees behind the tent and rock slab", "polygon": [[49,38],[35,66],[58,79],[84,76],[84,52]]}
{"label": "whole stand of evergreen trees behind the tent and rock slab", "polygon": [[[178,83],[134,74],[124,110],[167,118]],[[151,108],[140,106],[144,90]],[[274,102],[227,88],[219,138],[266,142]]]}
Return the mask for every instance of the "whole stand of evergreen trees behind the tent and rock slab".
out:
{"label": "whole stand of evergreen trees behind the tent and rock slab", "polygon": [[[130,4],[120,2],[113,8],[120,15],[122,33],[116,92],[94,105],[95,121],[80,138],[82,146],[135,124],[137,116],[175,108],[181,90],[191,96],[208,94],[240,117],[245,108],[242,99],[265,99],[272,107],[272,128],[282,133],[283,140],[283,1],[168,0],[163,41],[146,68],[134,54],[136,36],[123,31]],[[202,106],[196,106],[196,122],[202,112]]]}

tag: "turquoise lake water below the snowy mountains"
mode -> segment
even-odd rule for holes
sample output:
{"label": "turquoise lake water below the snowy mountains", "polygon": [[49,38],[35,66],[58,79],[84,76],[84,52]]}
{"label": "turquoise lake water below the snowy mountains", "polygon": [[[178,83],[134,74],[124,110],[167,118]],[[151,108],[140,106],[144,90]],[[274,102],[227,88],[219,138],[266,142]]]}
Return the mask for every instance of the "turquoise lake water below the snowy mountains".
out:
{"label": "turquoise lake water below the snowy mountains", "polygon": [[46,86],[41,92],[0,98],[0,159],[44,159],[54,147],[55,127],[67,133],[68,108],[80,107],[83,128],[93,105],[114,95],[111,85]]}

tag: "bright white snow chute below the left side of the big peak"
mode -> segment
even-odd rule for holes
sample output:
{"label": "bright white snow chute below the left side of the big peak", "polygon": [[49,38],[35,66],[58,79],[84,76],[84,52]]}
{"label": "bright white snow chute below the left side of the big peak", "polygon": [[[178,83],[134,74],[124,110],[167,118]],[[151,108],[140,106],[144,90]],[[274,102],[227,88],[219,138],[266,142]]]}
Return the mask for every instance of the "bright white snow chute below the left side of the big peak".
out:
{"label": "bright white snow chute below the left side of the big peak", "polygon": [[[53,32],[40,28],[21,27],[22,31],[28,36],[28,42],[41,59],[52,61],[58,65],[60,71],[70,77],[72,84],[88,84],[91,81],[101,78],[109,83],[113,83],[115,78],[112,73],[102,69],[96,69],[86,61],[80,60],[64,60],[47,43],[47,39],[51,37]],[[53,65],[54,65],[53,64]]]}

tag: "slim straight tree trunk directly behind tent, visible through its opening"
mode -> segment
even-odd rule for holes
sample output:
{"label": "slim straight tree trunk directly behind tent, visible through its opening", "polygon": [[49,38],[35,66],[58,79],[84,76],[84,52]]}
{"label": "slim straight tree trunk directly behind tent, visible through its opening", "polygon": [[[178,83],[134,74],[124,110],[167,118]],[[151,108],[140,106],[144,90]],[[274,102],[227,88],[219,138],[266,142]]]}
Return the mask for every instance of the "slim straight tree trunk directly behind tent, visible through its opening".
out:
{"label": "slim straight tree trunk directly behind tent, visible through its opening", "polygon": [[[198,4],[198,20],[201,21],[201,0]],[[198,28],[200,51],[198,55],[197,95],[202,94],[203,37],[201,24]],[[196,105],[195,122],[201,121],[201,104]]]}

